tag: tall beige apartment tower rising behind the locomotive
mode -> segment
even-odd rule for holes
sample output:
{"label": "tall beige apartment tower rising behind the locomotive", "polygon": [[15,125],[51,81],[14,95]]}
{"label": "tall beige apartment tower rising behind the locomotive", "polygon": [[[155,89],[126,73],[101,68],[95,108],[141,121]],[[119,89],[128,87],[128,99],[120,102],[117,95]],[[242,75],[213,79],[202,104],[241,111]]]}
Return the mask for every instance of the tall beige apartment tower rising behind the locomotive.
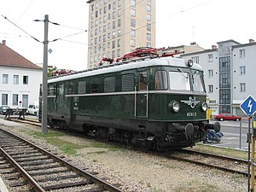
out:
{"label": "tall beige apartment tower rising behind the locomotive", "polygon": [[90,0],[88,68],[137,47],[155,47],[155,0]]}

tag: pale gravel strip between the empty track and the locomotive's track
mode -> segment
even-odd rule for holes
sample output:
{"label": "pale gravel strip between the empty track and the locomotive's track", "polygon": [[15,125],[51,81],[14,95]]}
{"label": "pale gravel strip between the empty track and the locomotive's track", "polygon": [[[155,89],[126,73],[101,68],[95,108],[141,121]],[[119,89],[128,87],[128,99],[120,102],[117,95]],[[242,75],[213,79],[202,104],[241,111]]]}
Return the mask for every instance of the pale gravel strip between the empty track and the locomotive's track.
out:
{"label": "pale gravel strip between the empty track and the locomotive's track", "polygon": [[[58,139],[79,145],[76,155],[63,154],[60,147],[47,142],[44,137],[31,136],[29,131],[41,131],[40,127],[9,122],[0,119],[0,127],[19,133],[32,143],[72,160],[81,168],[98,172],[97,176],[109,183],[120,184],[124,191],[132,192],[236,192],[247,191],[247,177],[222,172],[190,163],[135,151],[129,148],[93,147],[93,139],[64,133]],[[51,131],[51,130],[49,130]],[[83,147],[84,146],[84,147]]]}

